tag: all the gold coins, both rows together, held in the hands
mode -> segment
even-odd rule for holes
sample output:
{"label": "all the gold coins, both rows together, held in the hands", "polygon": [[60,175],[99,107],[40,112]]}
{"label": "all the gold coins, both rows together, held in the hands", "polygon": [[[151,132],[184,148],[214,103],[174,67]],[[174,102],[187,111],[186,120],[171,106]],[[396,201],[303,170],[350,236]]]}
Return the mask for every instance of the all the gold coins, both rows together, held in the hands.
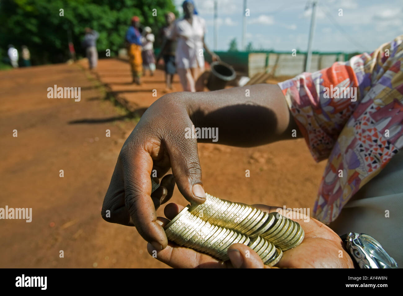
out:
{"label": "all the gold coins, both rows together, held in the hands", "polygon": [[[158,186],[152,180],[152,192]],[[304,238],[301,226],[279,213],[209,194],[202,205],[185,207],[165,226],[165,232],[169,240],[222,261],[229,259],[231,244],[245,244],[270,266],[280,261],[284,250],[298,246]]]}

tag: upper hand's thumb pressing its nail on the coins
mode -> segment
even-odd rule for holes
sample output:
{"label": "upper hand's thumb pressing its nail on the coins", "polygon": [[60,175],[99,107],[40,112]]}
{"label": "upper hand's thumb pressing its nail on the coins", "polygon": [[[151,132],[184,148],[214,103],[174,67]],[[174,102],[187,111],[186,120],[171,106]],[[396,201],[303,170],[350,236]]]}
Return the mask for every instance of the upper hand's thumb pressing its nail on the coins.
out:
{"label": "upper hand's thumb pressing its nail on the coins", "polygon": [[165,147],[168,150],[172,173],[179,191],[189,202],[201,204],[206,201],[206,193],[203,188],[202,168],[197,153],[197,139],[189,137],[192,128],[193,124],[189,120],[188,126],[182,125],[178,128],[177,132],[181,137],[167,139]]}

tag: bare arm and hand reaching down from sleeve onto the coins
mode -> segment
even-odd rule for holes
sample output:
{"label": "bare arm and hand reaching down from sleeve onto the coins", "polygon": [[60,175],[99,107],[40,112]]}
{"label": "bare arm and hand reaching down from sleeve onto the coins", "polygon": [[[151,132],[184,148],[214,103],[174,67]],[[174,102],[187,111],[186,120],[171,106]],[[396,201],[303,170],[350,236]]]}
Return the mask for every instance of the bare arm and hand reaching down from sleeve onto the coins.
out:
{"label": "bare arm and hand reaching down from sleeve onto the coins", "polygon": [[[247,89],[250,97],[245,96]],[[292,139],[291,130],[298,130],[277,85],[170,93],[155,101],[120,151],[102,205],[102,217],[136,226],[157,250],[165,248],[168,240],[157,222],[155,209],[172,196],[174,182],[187,201],[200,204],[206,200],[197,139],[185,138],[185,128],[192,124],[218,127],[217,143],[241,147]],[[152,170],[160,178],[171,168],[174,179],[172,175],[165,176],[151,195]]]}

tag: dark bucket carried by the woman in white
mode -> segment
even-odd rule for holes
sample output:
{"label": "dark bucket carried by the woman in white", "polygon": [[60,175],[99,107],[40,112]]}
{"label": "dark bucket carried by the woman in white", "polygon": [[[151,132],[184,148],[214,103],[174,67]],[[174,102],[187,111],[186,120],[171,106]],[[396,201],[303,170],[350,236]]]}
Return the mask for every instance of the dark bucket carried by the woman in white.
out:
{"label": "dark bucket carried by the woman in white", "polygon": [[210,77],[207,81],[207,88],[210,91],[224,89],[227,82],[237,76],[234,68],[224,62],[212,62],[210,68]]}

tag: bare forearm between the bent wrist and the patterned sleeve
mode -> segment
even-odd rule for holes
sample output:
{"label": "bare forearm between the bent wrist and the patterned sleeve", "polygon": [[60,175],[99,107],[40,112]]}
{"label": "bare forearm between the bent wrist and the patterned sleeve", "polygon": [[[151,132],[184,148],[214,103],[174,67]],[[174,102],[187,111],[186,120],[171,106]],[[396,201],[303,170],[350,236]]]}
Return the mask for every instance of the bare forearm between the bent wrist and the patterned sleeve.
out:
{"label": "bare forearm between the bent wrist and the patterned sleeve", "polygon": [[[248,93],[250,96],[246,96]],[[250,147],[292,139],[293,129],[298,133],[277,85],[260,84],[175,95],[184,100],[195,127],[218,128],[219,144]],[[198,141],[211,143],[211,139]]]}

